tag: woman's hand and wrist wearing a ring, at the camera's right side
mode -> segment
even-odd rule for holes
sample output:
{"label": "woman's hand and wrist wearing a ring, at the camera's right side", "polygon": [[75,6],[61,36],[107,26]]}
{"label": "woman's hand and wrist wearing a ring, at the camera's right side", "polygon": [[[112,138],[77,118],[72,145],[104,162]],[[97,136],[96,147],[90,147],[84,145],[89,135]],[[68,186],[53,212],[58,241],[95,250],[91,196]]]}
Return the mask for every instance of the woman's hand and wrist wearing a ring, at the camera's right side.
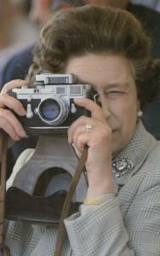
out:
{"label": "woman's hand and wrist wearing a ring, at the camera's right side", "polygon": [[[111,127],[101,108],[87,98],[75,100],[78,106],[87,108],[91,117],[82,116],[68,130],[69,143],[74,143],[78,157],[85,145],[89,147],[86,170],[89,180],[88,198],[114,192],[111,177]],[[91,131],[87,127],[91,125]]]}

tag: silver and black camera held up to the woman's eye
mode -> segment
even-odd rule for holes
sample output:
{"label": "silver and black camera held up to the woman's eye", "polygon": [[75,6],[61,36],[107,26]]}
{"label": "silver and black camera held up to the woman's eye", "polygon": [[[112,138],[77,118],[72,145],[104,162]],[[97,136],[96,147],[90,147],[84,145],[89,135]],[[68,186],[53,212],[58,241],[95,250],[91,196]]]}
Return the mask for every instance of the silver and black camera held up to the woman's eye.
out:
{"label": "silver and black camera held up to the woman's eye", "polygon": [[27,134],[66,134],[78,117],[90,115],[88,110],[74,104],[74,98],[89,96],[90,87],[75,84],[71,73],[42,73],[36,76],[33,86],[15,88],[9,95],[26,109],[26,116],[17,118]]}

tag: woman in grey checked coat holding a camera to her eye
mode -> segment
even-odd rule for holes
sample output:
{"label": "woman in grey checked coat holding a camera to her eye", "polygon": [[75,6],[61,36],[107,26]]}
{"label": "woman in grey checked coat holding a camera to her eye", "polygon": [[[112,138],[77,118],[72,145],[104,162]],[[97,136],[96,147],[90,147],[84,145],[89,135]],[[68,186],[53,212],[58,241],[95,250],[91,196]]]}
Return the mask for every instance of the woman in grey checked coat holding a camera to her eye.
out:
{"label": "woman in grey checked coat holding a camera to her eye", "polygon": [[[62,255],[160,254],[160,145],[140,121],[149,91],[144,90],[149,53],[150,40],[139,21],[119,9],[71,9],[43,28],[29,83],[45,71],[74,73],[77,83],[94,86],[101,104],[75,100],[91,112],[68,130],[78,155],[89,147],[89,189],[79,212],[65,220]],[[13,140],[26,132],[4,107],[19,115],[26,111],[6,92],[26,83],[11,81],[0,96],[0,125]],[[156,85],[151,88],[156,95]],[[25,162],[26,153],[14,172]],[[54,255],[56,231],[9,222],[6,242],[12,255]]]}

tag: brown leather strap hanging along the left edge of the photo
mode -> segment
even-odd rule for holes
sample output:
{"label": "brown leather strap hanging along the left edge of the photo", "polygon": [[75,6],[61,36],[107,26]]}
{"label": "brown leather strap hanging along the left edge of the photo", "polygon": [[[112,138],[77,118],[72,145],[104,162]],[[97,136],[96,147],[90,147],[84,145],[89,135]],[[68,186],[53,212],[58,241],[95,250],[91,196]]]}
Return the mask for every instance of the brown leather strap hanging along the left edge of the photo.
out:
{"label": "brown leather strap hanging along the left edge of the photo", "polygon": [[0,253],[3,256],[9,256],[9,247],[4,244],[4,209],[6,195],[6,175],[7,175],[7,148],[8,137],[2,133],[2,163],[1,163],[1,181],[0,181]]}

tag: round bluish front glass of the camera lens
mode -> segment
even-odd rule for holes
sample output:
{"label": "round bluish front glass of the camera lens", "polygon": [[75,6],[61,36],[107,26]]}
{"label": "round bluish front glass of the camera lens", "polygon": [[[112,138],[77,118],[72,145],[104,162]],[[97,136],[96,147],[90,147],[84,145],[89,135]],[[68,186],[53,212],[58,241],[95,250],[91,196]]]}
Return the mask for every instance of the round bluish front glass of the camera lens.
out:
{"label": "round bluish front glass of the camera lens", "polygon": [[39,109],[43,119],[53,120],[60,114],[60,105],[54,99],[44,101]]}

